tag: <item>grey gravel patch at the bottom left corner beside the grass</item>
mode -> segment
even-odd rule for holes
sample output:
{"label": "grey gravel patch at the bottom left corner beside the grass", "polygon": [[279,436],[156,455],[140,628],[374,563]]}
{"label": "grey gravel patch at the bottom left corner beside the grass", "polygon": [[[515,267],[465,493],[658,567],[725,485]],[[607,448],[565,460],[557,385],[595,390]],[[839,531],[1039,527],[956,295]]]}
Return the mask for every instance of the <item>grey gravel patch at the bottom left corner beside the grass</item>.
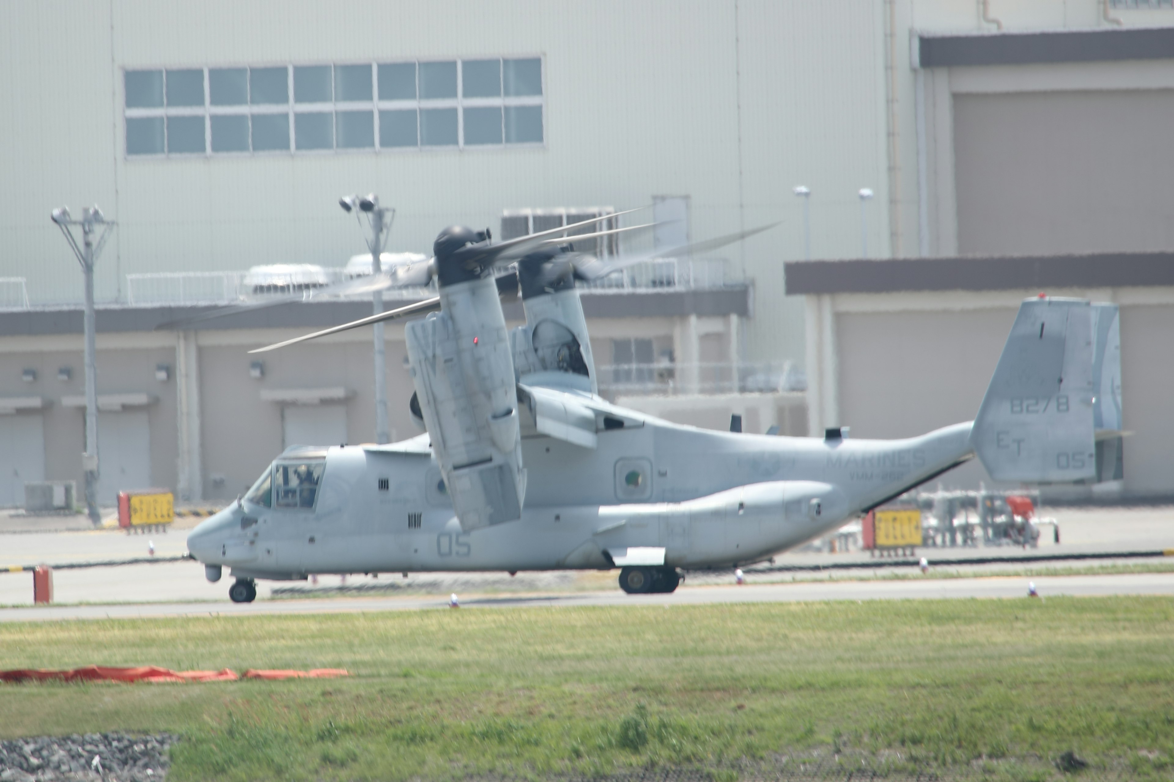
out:
{"label": "grey gravel patch at the bottom left corner beside the grass", "polygon": [[[167,774],[176,736],[87,733],[0,741],[0,782],[147,782]],[[94,762],[97,757],[99,762]]]}

